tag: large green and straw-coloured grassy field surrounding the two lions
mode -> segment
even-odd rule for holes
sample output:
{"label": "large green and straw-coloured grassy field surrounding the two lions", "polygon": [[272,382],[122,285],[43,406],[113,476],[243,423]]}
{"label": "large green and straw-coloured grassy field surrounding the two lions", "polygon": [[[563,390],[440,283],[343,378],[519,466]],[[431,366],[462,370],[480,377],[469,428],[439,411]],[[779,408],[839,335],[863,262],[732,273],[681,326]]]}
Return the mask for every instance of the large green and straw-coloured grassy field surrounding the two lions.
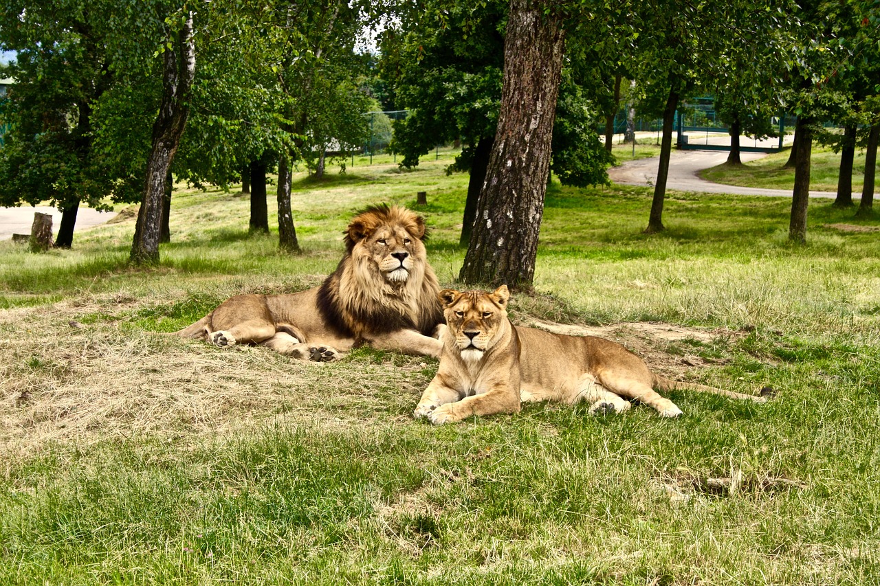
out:
{"label": "large green and straw-coloured grassy field surrounding the two lions", "polygon": [[[519,323],[599,331],[667,376],[765,405],[585,407],[434,428],[436,361],[340,363],[162,335],[241,292],[319,283],[357,209],[422,208],[454,285],[466,176],[451,154],[299,175],[299,256],[249,238],[248,201],[180,186],[172,244],[128,267],[133,217],[35,255],[0,243],[2,584],[880,583],[880,222],[784,198],[548,194]],[[270,209],[274,201],[270,201]],[[270,218],[270,224],[274,218]]]}

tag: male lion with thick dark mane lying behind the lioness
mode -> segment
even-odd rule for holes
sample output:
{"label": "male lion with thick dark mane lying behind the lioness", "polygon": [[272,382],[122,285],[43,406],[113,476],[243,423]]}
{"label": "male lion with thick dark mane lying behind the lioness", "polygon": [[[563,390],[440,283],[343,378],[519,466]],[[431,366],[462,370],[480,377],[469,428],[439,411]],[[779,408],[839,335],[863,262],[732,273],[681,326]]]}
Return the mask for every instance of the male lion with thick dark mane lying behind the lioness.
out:
{"label": "male lion with thick dark mane lying behind the lioness", "polygon": [[440,286],[428,265],[425,223],[380,205],[348,224],[346,252],[320,287],[290,295],[237,295],[176,334],[217,346],[261,344],[329,362],[368,342],[374,348],[439,356],[431,336],[443,323]]}

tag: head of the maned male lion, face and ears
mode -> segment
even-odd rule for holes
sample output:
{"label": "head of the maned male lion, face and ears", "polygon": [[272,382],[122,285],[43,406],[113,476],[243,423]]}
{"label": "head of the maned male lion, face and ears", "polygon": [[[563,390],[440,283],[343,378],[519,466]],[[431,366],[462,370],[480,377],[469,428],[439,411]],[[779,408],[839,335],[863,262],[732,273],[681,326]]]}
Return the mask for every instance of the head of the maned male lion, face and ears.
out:
{"label": "head of the maned male lion, face and ears", "polygon": [[356,261],[370,265],[385,281],[402,284],[424,270],[424,234],[420,216],[407,209],[381,207],[352,220],[346,241]]}

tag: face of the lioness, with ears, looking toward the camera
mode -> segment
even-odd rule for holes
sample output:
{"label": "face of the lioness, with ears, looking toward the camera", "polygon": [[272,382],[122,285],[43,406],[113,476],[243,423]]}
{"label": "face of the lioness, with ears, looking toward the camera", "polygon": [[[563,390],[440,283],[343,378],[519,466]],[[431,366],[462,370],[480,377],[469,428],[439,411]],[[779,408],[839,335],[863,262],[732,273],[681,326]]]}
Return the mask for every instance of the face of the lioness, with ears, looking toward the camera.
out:
{"label": "face of the lioness, with ears, looking toward the camera", "polygon": [[510,291],[502,285],[495,292],[440,291],[449,335],[466,362],[478,362],[495,345],[507,324]]}

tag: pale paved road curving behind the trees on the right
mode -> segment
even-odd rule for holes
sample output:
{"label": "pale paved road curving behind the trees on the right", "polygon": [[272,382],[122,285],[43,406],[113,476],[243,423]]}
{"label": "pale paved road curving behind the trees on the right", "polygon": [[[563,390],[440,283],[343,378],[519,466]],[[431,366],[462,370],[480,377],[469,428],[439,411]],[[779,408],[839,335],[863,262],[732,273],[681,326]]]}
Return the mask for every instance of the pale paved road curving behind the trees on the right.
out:
{"label": "pale paved road curving behind the trees on the right", "polygon": [[[764,157],[759,152],[744,152],[743,162]],[[769,195],[791,197],[790,189],[762,189],[760,187],[739,187],[713,183],[697,177],[697,172],[727,160],[727,153],[716,150],[673,150],[669,161],[669,177],[666,187],[680,191],[696,191],[709,194]],[[623,165],[612,167],[608,175],[615,183],[626,185],[652,186],[657,178],[658,157],[640,158],[626,161]],[[835,197],[836,194],[823,191],[810,191],[810,197]],[[856,197],[859,194],[855,194]]]}

